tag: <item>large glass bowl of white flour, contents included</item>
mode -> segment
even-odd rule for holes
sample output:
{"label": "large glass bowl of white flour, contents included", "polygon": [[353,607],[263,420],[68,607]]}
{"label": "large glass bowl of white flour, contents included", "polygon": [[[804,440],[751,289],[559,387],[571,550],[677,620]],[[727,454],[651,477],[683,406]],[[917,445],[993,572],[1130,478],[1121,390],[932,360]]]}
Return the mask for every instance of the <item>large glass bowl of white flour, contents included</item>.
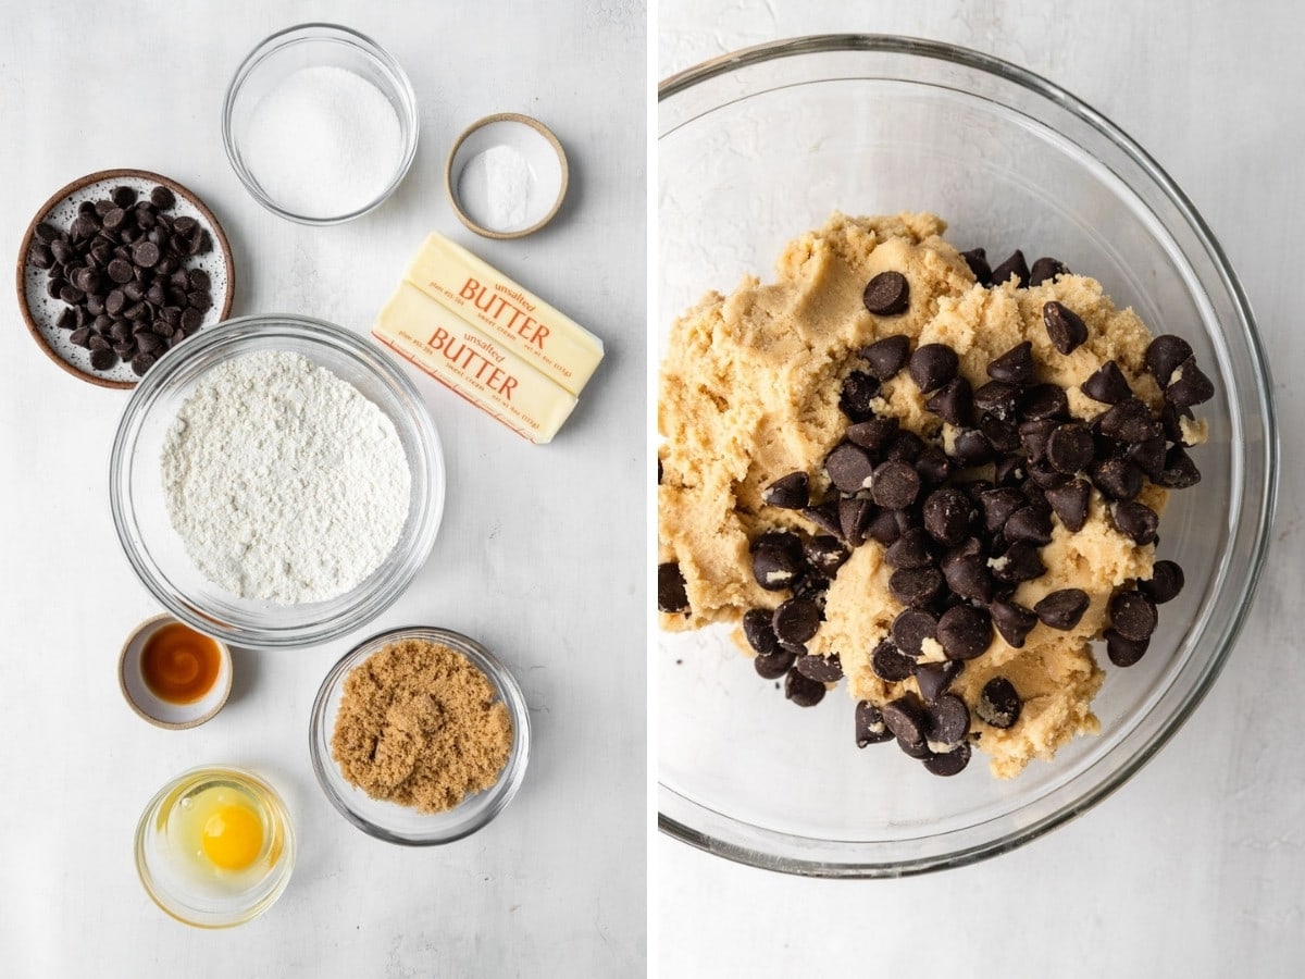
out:
{"label": "large glass bowl of white flour, contents included", "polygon": [[307,646],[372,620],[435,543],[444,457],[382,351],[247,316],[162,358],[114,440],[110,506],[158,602],[227,642]]}

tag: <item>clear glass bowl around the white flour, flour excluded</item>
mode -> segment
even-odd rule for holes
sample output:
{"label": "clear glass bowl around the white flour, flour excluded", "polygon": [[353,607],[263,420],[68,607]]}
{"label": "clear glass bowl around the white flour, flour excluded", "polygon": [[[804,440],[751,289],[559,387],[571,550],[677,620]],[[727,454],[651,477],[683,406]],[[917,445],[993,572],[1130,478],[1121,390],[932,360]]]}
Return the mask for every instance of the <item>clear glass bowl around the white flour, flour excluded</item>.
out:
{"label": "clear glass bowl around the white flour, flour excluded", "polygon": [[[407,521],[389,557],[325,602],[277,606],[236,598],[194,567],[168,518],[159,458],[177,410],[210,369],[258,350],[299,354],[352,384],[394,423],[412,475]],[[382,350],[321,320],[244,316],[174,347],[141,379],[114,439],[108,501],[127,560],[168,612],[235,646],[307,646],[352,632],[403,594],[440,527],[444,456],[422,396]]]}

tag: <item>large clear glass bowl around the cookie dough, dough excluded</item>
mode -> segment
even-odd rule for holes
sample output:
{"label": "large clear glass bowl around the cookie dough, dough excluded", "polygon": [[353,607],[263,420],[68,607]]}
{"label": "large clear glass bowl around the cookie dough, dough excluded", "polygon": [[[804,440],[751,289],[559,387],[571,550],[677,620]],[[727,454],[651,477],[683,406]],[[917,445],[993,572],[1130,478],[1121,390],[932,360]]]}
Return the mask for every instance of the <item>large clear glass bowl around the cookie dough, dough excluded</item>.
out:
{"label": "large clear glass bowl around the cookie dough, dough excluded", "polygon": [[[1109,668],[1101,734],[1000,782],[977,752],[932,778],[891,745],[857,751],[839,687],[787,704],[719,629],[658,651],[660,826],[792,873],[881,877],[1017,847],[1122,785],[1191,714],[1259,576],[1276,486],[1267,368],[1237,277],[1190,201],[1069,93],[996,59],[876,35],[749,48],[662,84],[659,355],[707,290],[770,278],[833,210],[932,210],[993,264],[1022,247],[1099,278],[1152,332],[1182,334],[1218,386],[1203,479],[1174,493],[1160,556],[1186,570],[1141,663]],[[1104,655],[1100,657],[1104,662]]]}

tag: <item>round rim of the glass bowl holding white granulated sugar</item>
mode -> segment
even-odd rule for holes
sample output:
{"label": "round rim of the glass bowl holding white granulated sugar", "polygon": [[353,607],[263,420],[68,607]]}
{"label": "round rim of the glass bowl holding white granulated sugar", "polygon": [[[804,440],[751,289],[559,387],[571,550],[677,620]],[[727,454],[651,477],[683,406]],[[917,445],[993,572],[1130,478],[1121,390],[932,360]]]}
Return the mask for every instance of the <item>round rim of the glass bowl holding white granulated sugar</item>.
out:
{"label": "round rim of the glass bowl holding white granulated sugar", "polygon": [[[236,99],[240,95],[240,89],[244,86],[245,80],[253,73],[253,70],[266,59],[275,56],[287,47],[322,40],[356,48],[377,63],[377,67],[381,68],[382,72],[394,82],[394,89],[399,95],[399,101],[403,103],[399,125],[405,129],[403,158],[399,162],[398,170],[394,172],[394,178],[385,187],[385,189],[381,191],[380,196],[356,210],[329,218],[296,214],[295,211],[282,208],[265,194],[262,188],[258,187],[258,181],[253,179],[249,168],[244,164],[244,157],[240,154],[240,148],[236,145],[235,136],[231,132],[231,121]],[[286,218],[286,221],[294,221],[299,225],[342,225],[346,221],[360,218],[368,211],[380,208],[385,204],[390,194],[398,189],[398,185],[403,183],[403,178],[407,176],[408,168],[416,158],[416,145],[420,136],[422,120],[418,117],[416,111],[416,93],[412,90],[412,82],[408,81],[407,72],[405,72],[394,56],[376,40],[367,37],[361,31],[356,31],[352,27],[346,27],[341,23],[324,23],[317,21],[309,23],[296,23],[292,27],[286,27],[284,30],[278,30],[275,34],[268,35],[245,56],[244,61],[240,63],[240,67],[236,68],[236,73],[231,77],[231,82],[227,85],[226,98],[222,102],[222,146],[227,151],[227,161],[231,163],[231,168],[236,172],[236,176],[240,178],[240,183],[244,184],[249,196],[253,197],[260,205],[270,210],[273,214],[278,214],[282,218]]]}

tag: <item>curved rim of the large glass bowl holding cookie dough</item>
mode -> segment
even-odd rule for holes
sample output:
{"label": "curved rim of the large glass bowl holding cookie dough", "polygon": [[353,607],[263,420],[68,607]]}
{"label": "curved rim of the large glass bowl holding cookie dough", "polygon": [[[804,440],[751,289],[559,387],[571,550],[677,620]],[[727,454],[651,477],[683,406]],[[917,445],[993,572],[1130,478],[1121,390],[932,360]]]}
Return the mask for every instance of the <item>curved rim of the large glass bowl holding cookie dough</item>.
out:
{"label": "curved rim of the large glass bowl holding cookie dough", "polygon": [[[1254,389],[1241,390],[1238,388],[1235,397],[1231,397],[1231,401],[1235,405],[1241,403],[1245,411],[1251,412],[1253,416],[1246,419],[1251,424],[1258,418],[1263,429],[1263,465],[1257,470],[1251,470],[1249,465],[1244,469],[1242,476],[1249,491],[1244,495],[1240,513],[1232,514],[1236,525],[1233,533],[1229,534],[1229,540],[1232,542],[1251,533],[1254,534],[1254,539],[1249,546],[1245,576],[1240,581],[1228,580],[1224,585],[1225,591],[1232,595],[1232,599],[1216,599],[1220,604],[1229,608],[1228,616],[1218,624],[1208,624],[1206,627],[1207,632],[1202,637],[1202,641],[1214,644],[1214,651],[1199,664],[1199,675],[1191,683],[1191,688],[1185,698],[1167,719],[1148,732],[1144,732],[1142,730],[1143,726],[1139,724],[1111,749],[1111,753],[1105,756],[1107,758],[1114,757],[1121,752],[1126,757],[1109,777],[1104,778],[1095,787],[1091,787],[1086,794],[1074,795],[1075,783],[1070,782],[1034,800],[1030,805],[1009,812],[997,820],[949,830],[933,837],[919,837],[907,841],[911,845],[916,845],[916,852],[898,858],[882,858],[881,854],[873,852],[874,846],[872,843],[838,843],[831,845],[834,847],[831,850],[822,846],[825,841],[741,822],[681,796],[660,782],[658,785],[658,828],[663,833],[699,850],[753,867],[812,877],[900,877],[975,863],[1014,850],[1043,835],[1074,816],[1086,812],[1124,785],[1182,726],[1197,705],[1205,698],[1205,694],[1227,660],[1250,608],[1255,586],[1259,582],[1265,553],[1268,547],[1268,529],[1272,523],[1276,504],[1278,427],[1274,416],[1272,385],[1257,333],[1254,315],[1242,291],[1241,282],[1205,219],[1197,213],[1191,201],[1178,189],[1169,175],[1137,142],[1100,112],[1045,78],[1007,61],[954,44],[885,34],[825,34],[758,44],[703,61],[662,81],[658,86],[658,103],[663,104],[675,95],[688,93],[702,82],[766,61],[831,52],[915,56],[917,59],[946,61],[966,69],[977,70],[994,77],[998,82],[1018,86],[1026,94],[1040,97],[1047,103],[1051,103],[1048,107],[1067,112],[1078,123],[1086,124],[1090,134],[1098,138],[1104,137],[1107,145],[1122,154],[1121,163],[1134,168],[1134,172],[1120,172],[1116,168],[1116,176],[1134,192],[1139,183],[1146,184],[1150,181],[1167,198],[1168,204],[1176,209],[1195,244],[1199,245],[1199,251],[1205,253],[1205,257],[1212,266],[1214,281],[1207,281],[1206,277],[1198,275],[1194,269],[1190,278],[1199,279],[1202,286],[1221,287],[1227,291],[1227,305],[1231,308],[1233,319],[1224,320],[1220,317],[1219,321],[1223,326],[1223,333],[1240,338],[1245,345],[1245,354],[1254,368]],[[869,76],[863,74],[857,77]],[[885,76],[881,73],[874,77]],[[796,84],[816,81],[825,81],[825,78],[813,77]],[[749,90],[746,91],[746,97],[793,84],[776,82],[758,90]],[[740,94],[737,98],[743,97]],[[993,101],[997,99],[993,98]],[[699,108],[694,115],[677,119],[672,125],[659,121],[658,138],[668,136],[681,125],[697,119],[702,112],[713,111],[716,107],[711,106],[710,110]],[[1051,127],[1043,119],[1039,119],[1039,121]],[[1060,131],[1057,129],[1057,132]],[[1074,142],[1078,145],[1077,140]],[[1079,149],[1083,148],[1079,146]],[[1190,261],[1193,253],[1182,252],[1182,255],[1186,261]],[[1139,740],[1141,743],[1138,743]],[[1048,800],[1052,800],[1049,805]],[[1024,809],[1034,807],[1041,811],[1036,813],[1024,812]],[[668,809],[673,809],[673,813],[668,812]],[[694,825],[689,825],[690,820]],[[1006,825],[1002,831],[993,834],[992,822],[1005,822]],[[951,841],[951,846],[930,846],[930,843],[937,843],[937,841]],[[900,846],[900,841],[891,846]],[[848,856],[843,852],[835,852],[838,847],[853,848],[860,852]],[[776,851],[779,850],[783,850],[784,855],[778,855]]]}

